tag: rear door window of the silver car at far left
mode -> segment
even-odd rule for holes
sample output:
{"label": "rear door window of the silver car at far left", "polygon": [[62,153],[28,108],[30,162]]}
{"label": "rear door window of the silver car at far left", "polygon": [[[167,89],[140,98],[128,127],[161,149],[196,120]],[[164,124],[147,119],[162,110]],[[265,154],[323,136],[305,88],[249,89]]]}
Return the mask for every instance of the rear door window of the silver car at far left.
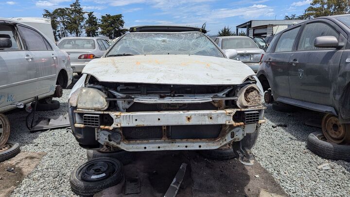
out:
{"label": "rear door window of the silver car at far left", "polygon": [[22,36],[25,40],[28,50],[30,51],[48,50],[48,48],[46,47],[44,38],[39,33],[24,26],[18,26],[18,29],[22,33]]}

